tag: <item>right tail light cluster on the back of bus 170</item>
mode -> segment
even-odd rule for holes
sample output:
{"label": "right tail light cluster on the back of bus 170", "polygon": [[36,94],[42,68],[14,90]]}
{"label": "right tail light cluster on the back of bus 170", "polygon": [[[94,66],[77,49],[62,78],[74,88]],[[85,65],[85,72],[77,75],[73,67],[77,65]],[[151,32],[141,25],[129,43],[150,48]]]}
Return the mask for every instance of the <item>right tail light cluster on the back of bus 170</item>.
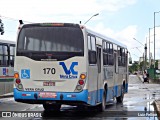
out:
{"label": "right tail light cluster on the back of bus 170", "polygon": [[86,82],[86,73],[82,73],[80,74],[79,76],[79,80],[78,80],[78,83],[76,85],[76,89],[75,89],[75,92],[80,92],[83,90],[83,87],[85,85],[85,82]]}

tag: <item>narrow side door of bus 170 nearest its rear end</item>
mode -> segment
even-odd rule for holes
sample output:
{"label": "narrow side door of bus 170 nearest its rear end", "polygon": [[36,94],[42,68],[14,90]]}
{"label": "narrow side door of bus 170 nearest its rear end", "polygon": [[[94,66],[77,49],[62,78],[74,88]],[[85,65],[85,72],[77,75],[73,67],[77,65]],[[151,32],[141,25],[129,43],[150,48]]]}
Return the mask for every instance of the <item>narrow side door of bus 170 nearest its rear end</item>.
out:
{"label": "narrow side door of bus 170 nearest its rear end", "polygon": [[98,67],[98,76],[97,76],[97,102],[100,101],[100,81],[101,81],[101,47],[97,46],[97,67]]}

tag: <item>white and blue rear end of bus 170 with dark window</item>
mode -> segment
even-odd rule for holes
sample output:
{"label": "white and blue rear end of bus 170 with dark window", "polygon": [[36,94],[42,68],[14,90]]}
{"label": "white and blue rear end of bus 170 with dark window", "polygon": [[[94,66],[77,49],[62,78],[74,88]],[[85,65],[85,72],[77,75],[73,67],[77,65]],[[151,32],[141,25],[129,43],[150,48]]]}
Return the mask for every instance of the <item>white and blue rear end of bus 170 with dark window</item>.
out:
{"label": "white and blue rear end of bus 170 with dark window", "polygon": [[46,110],[87,104],[84,46],[77,24],[22,25],[15,56],[15,100],[43,104]]}

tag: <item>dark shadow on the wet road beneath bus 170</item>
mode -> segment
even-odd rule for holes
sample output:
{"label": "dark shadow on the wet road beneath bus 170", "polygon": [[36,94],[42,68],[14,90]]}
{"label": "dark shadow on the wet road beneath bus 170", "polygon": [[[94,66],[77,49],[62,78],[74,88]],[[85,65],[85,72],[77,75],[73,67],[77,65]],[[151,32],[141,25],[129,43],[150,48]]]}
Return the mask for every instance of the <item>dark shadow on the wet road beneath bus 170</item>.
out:
{"label": "dark shadow on the wet road beneath bus 170", "polygon": [[[78,107],[66,107],[61,109],[61,111],[47,111],[44,110],[42,113],[42,117],[53,118],[53,119],[91,119],[91,118],[103,118],[116,116],[116,111],[112,110],[115,104],[106,105],[106,110],[104,112],[100,112],[99,108],[89,107],[89,108],[78,108]],[[122,104],[118,104],[118,106],[123,106]],[[115,108],[114,108],[115,109]],[[111,112],[110,112],[111,111]],[[124,114],[124,111],[121,111],[121,114]]]}

